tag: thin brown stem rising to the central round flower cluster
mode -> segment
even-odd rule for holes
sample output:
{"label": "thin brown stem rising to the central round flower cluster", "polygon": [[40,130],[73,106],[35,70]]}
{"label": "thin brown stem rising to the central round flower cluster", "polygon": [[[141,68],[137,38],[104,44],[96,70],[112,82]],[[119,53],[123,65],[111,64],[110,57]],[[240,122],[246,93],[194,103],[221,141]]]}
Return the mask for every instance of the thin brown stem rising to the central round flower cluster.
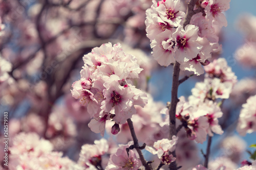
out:
{"label": "thin brown stem rising to the central round flower cluster", "polygon": [[147,162],[146,162],[146,160],[145,160],[141,150],[139,149],[138,139],[136,137],[136,134],[135,134],[135,131],[134,131],[134,127],[133,127],[133,122],[132,122],[131,118],[127,119],[127,123],[129,125],[130,131],[131,131],[131,134],[132,134],[132,137],[133,137],[134,148],[136,149],[136,151],[139,154],[141,163],[143,164],[143,166],[145,167],[146,170],[151,170],[152,167],[149,164],[147,164]]}

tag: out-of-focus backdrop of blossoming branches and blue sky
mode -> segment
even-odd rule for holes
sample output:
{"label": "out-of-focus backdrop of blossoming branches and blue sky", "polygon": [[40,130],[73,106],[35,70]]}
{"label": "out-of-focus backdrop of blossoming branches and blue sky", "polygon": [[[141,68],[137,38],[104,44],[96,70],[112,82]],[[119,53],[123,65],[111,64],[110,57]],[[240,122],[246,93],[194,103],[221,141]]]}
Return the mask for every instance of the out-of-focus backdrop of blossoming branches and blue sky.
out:
{"label": "out-of-focus backdrop of blossoming branches and blue sky", "polygon": [[[83,114],[85,108],[72,98],[70,89],[80,79],[82,56],[102,43],[120,42],[144,69],[137,87],[163,106],[170,101],[172,66],[160,67],[152,60],[145,32],[145,10],[151,5],[147,0],[0,0],[0,108],[1,114],[9,113],[10,141],[19,132],[36,132],[50,140],[56,151],[77,160],[82,144],[100,138],[88,128],[90,116]],[[225,13],[228,26],[219,35],[222,53],[212,57],[226,58],[239,80],[224,102],[226,116],[220,123],[226,132],[215,135],[212,159],[223,154],[220,147],[227,136],[238,135],[235,129],[241,106],[256,94],[255,7],[251,0],[230,2]],[[188,73],[182,72],[180,77],[185,75]],[[195,83],[203,78],[194,76],[184,82],[178,95],[191,95]],[[243,150],[251,150],[248,147],[255,139],[255,133],[242,137],[246,141]],[[198,148],[205,151],[206,142]],[[198,155],[202,157],[200,152]],[[248,158],[244,152],[236,163]]]}

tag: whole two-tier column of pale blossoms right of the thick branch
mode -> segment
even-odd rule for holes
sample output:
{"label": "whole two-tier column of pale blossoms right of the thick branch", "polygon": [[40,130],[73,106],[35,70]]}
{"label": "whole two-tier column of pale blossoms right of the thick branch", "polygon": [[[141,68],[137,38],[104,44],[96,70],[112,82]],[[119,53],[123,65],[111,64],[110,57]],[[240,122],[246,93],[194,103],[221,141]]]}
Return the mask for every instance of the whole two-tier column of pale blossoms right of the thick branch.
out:
{"label": "whole two-tier column of pale blossoms right of the thick branch", "polygon": [[[214,60],[205,66],[205,70],[204,82],[196,83],[188,102],[182,96],[176,108],[176,118],[181,121],[187,137],[199,143],[206,140],[207,134],[223,133],[218,120],[223,113],[217,100],[228,99],[237,82],[225,59]],[[165,121],[168,122],[168,117]]]}

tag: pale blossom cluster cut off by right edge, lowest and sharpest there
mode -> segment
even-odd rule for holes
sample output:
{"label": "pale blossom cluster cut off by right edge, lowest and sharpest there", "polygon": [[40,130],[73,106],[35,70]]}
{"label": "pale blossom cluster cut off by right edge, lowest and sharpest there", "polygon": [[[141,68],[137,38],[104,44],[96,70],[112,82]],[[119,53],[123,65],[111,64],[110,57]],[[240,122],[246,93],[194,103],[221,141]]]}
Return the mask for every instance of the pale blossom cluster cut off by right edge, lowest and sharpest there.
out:
{"label": "pale blossom cluster cut off by right edge, lowest and sharpest there", "polygon": [[240,135],[252,133],[256,131],[256,95],[250,96],[247,102],[242,105],[242,110],[239,115],[237,131]]}

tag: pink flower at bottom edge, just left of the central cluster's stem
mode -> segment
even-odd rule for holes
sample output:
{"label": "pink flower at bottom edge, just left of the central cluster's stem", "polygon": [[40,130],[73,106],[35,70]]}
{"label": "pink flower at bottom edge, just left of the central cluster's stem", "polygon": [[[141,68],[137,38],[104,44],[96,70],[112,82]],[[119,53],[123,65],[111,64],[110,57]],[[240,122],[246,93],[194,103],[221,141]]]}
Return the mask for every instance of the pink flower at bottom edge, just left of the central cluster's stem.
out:
{"label": "pink flower at bottom edge, just left of the central cluster's stem", "polygon": [[142,166],[142,163],[137,158],[133,150],[129,150],[129,156],[127,155],[126,148],[129,147],[129,145],[119,145],[119,148],[117,149],[116,153],[110,155],[110,161],[105,169],[139,169],[139,167]]}

